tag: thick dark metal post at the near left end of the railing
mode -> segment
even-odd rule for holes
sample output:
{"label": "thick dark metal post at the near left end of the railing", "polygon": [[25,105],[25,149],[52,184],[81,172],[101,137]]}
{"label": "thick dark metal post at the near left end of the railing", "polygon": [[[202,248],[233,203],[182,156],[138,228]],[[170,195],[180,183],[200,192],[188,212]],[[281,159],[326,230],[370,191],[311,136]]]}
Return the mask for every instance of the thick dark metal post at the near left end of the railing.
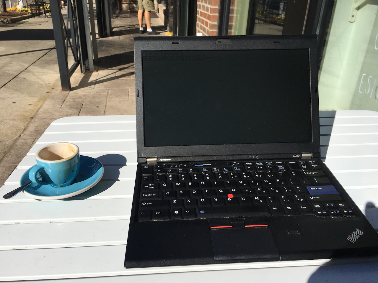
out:
{"label": "thick dark metal post at the near left end of the railing", "polygon": [[58,57],[58,67],[60,74],[60,84],[62,85],[62,91],[70,91],[71,82],[68,72],[67,52],[65,46],[65,31],[63,24],[60,21],[62,14],[60,12],[60,0],[50,1],[51,18],[53,20],[53,30],[56,46],[56,55]]}

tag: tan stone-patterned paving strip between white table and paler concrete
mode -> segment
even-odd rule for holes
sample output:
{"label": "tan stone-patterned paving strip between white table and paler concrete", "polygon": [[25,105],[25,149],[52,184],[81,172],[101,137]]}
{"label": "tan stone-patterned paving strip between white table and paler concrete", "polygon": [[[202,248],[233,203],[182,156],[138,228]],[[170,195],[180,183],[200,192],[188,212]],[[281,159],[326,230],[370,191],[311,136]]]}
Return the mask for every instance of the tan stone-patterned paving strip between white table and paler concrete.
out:
{"label": "tan stone-patterned paving strip between white table and paler concrete", "polygon": [[[151,15],[153,29],[165,35],[161,20],[155,12]],[[116,14],[112,26],[112,37],[98,39],[100,61],[95,63],[98,71],[81,74],[78,68],[71,77],[69,92],[61,91],[59,81],[29,119],[30,122],[0,161],[0,186],[54,120],[68,116],[135,114],[133,37],[140,35],[136,12]]]}

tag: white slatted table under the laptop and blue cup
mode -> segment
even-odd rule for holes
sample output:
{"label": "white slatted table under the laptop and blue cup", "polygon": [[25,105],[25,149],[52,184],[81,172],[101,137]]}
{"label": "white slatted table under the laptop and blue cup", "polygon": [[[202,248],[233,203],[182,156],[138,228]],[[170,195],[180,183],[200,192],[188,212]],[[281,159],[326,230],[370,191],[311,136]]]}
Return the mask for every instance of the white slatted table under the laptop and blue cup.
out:
{"label": "white slatted table under the laptop and blue cup", "polygon": [[[378,229],[378,112],[320,114],[322,157]],[[9,176],[0,195],[19,186],[21,175],[35,164],[37,149],[58,141],[76,143],[82,155],[98,158],[105,166],[104,177],[67,201],[37,201],[23,193],[0,200],[1,281],[378,282],[376,262],[328,265],[329,260],[305,260],[125,269],[137,163],[135,116],[56,120]],[[322,237],[321,231],[314,232]],[[169,239],[156,244],[169,244]]]}

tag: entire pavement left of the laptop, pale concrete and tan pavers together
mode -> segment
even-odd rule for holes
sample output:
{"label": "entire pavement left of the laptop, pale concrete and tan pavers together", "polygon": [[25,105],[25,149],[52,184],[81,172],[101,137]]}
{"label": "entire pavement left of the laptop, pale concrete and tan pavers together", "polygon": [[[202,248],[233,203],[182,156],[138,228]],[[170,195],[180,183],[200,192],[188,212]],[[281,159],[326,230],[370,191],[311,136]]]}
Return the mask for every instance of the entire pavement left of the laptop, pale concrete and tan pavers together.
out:
{"label": "entire pavement left of the laptop, pale concrete and tan pavers together", "polygon": [[[151,17],[151,25],[165,35],[157,16]],[[1,59],[5,58],[8,64],[0,66],[0,72],[5,74],[0,77],[0,113],[5,113],[0,114],[0,123],[9,125],[0,130],[0,186],[54,120],[78,115],[135,114],[133,37],[140,35],[137,12],[115,14],[112,26],[112,37],[97,39],[97,71],[82,74],[77,68],[70,79],[71,90],[65,92],[60,86],[55,43],[49,38],[51,17],[0,26],[0,54],[7,54]],[[39,29],[45,35],[36,31]],[[9,31],[24,36],[34,31],[38,36],[36,40],[17,40],[20,48],[15,50],[11,48],[14,40],[2,39],[2,34]],[[70,56],[68,65],[72,63]]]}

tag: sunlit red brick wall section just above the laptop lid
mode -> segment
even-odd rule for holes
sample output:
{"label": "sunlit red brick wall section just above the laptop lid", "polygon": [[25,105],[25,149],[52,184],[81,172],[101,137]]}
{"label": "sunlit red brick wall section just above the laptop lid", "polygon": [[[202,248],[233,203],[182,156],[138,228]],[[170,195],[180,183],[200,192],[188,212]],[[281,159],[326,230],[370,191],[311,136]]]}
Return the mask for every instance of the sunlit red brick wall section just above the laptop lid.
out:
{"label": "sunlit red brick wall section just above the laptop lid", "polygon": [[219,0],[197,0],[196,34],[217,35]]}

